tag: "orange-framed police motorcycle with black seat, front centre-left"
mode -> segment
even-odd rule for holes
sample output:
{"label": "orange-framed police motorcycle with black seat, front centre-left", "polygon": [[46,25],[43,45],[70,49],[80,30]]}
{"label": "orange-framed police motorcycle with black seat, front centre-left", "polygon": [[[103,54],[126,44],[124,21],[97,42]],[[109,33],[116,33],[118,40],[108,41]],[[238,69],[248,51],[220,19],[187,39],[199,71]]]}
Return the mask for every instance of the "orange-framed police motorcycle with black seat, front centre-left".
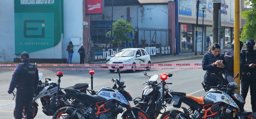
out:
{"label": "orange-framed police motorcycle with black seat, front centre-left", "polygon": [[131,107],[128,101],[132,101],[133,98],[124,89],[126,86],[120,77],[119,68],[117,72],[119,79],[112,79],[113,87],[102,87],[96,95],[84,94],[74,89],[64,89],[68,96],[78,100],[84,107],[60,108],[52,119],[117,119],[119,113],[123,113],[123,119],[148,119],[148,115],[140,108]]}

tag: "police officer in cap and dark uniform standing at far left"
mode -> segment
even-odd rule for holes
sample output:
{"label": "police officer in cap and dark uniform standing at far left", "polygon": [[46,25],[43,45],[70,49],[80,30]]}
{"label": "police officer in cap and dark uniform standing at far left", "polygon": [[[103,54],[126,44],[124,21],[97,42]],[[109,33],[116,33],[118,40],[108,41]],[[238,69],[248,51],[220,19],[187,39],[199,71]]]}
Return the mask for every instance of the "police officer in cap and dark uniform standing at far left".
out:
{"label": "police officer in cap and dark uniform standing at far left", "polygon": [[15,87],[17,88],[15,119],[22,119],[23,108],[25,108],[26,119],[32,119],[32,100],[39,82],[38,69],[29,63],[27,52],[21,53],[20,60],[21,63],[17,65],[12,75],[8,93],[12,94]]}

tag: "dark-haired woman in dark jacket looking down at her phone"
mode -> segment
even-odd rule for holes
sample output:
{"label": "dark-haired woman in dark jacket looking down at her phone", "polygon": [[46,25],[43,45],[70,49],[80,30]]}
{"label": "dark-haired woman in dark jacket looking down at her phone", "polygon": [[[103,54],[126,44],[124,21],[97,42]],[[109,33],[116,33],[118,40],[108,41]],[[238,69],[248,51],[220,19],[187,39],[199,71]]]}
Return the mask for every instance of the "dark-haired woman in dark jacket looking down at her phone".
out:
{"label": "dark-haired woman in dark jacket looking down at her phone", "polygon": [[222,73],[224,68],[226,68],[224,55],[220,54],[221,46],[218,43],[213,43],[210,47],[209,52],[204,54],[202,59],[202,68],[206,71],[206,74],[204,74],[204,84],[208,91],[211,86],[221,85],[221,82],[212,79],[210,74],[216,74],[217,77],[223,79]]}

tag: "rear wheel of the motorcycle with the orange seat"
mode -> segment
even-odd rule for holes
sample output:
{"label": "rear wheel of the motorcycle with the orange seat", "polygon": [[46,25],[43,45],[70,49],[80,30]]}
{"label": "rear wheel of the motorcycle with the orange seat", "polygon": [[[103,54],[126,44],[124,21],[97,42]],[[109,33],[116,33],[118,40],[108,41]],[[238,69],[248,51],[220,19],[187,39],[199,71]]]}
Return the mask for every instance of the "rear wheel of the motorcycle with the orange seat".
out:
{"label": "rear wheel of the motorcycle with the orange seat", "polygon": [[179,117],[177,117],[179,113],[183,113],[181,111],[172,110],[172,112],[171,113],[170,112],[171,111],[166,111],[165,113],[163,113],[160,119],[186,119],[185,114],[181,114]]}

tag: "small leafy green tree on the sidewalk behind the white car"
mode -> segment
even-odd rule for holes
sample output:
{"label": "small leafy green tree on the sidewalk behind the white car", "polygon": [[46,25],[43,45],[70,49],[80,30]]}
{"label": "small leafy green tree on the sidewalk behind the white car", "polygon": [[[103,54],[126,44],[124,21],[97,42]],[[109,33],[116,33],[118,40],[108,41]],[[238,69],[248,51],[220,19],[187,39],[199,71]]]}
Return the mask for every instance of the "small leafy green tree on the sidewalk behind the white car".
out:
{"label": "small leafy green tree on the sidewalk behind the white car", "polygon": [[[129,38],[129,33],[132,33],[134,36],[135,31],[134,31],[134,26],[132,26],[131,23],[128,23],[125,20],[119,19],[116,22],[114,22],[112,25],[113,25],[112,34],[114,37],[112,44],[116,42],[119,48],[119,44],[121,44],[122,42],[125,42],[125,41],[132,42],[133,38]],[[111,31],[108,31],[108,33],[106,34],[106,37],[110,35],[111,35]]]}

